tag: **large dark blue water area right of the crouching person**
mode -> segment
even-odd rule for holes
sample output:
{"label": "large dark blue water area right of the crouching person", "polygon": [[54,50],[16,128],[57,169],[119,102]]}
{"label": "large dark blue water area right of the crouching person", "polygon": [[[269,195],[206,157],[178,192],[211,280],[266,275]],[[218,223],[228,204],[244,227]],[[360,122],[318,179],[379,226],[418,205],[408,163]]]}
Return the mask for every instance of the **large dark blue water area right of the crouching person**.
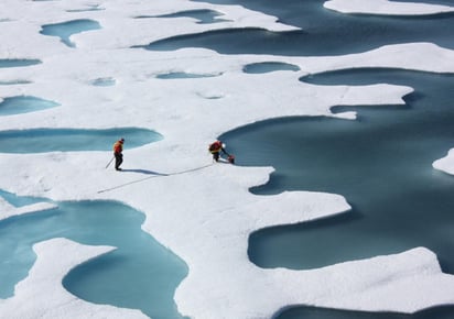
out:
{"label": "large dark blue water area right of the crouching person", "polygon": [[[406,106],[335,108],[358,111],[356,121],[282,119],[220,136],[239,165],[277,168],[270,182],[252,193],[327,191],[345,196],[353,206],[344,216],[252,233],[250,260],[261,267],[305,270],[425,246],[436,253],[443,271],[453,274],[454,177],[433,169],[432,163],[454,147],[454,75],[366,68],[301,80],[388,82],[409,85],[415,91],[406,97]],[[301,315],[306,311],[317,317]],[[453,307],[435,311],[447,316],[441,318],[454,316]],[[347,318],[305,308],[289,314],[300,315],[282,318]],[[431,314],[414,318],[433,318]]]}

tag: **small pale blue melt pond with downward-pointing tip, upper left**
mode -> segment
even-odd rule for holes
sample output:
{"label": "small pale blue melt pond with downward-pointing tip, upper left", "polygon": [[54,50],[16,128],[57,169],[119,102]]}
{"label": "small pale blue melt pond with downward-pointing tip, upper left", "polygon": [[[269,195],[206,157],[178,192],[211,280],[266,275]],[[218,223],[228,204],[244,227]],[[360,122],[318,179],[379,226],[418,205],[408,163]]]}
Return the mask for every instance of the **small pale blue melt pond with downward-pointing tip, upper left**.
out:
{"label": "small pale blue melt pond with downward-pointing tip, upper left", "polygon": [[90,30],[98,30],[100,28],[101,26],[97,21],[83,19],[63,23],[45,24],[42,26],[40,33],[44,35],[58,36],[64,44],[69,47],[75,47],[75,43],[69,40],[73,34]]}

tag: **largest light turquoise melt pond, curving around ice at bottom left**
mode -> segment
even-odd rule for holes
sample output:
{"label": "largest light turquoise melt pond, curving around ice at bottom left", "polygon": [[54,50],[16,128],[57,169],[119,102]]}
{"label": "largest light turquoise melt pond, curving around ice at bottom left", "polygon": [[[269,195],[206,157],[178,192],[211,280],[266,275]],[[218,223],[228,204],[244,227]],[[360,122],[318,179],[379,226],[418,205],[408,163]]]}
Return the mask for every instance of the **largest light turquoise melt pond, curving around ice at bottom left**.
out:
{"label": "largest light turquoise melt pond, curving around ice at bottom left", "polygon": [[[0,191],[12,205],[36,201]],[[151,318],[182,318],[173,295],[186,264],[141,230],[144,215],[116,201],[63,201],[55,209],[0,221],[0,298],[12,296],[35,255],[32,245],[67,238],[117,250],[88,261],[64,278],[64,287],[95,304],[140,309]]]}

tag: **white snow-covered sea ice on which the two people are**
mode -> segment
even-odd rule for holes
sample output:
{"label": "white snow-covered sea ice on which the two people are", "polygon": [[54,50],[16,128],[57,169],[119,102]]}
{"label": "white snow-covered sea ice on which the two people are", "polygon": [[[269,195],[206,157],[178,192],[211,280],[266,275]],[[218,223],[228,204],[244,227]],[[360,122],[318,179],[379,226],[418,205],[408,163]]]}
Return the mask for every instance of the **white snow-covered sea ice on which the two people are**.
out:
{"label": "white snow-covered sea ice on which the two people are", "polygon": [[[332,2],[337,9],[353,11],[347,1]],[[370,13],[364,3],[355,2],[359,11]],[[404,9],[385,1],[367,3],[369,9],[378,3],[387,13],[399,14],[401,10],[410,14],[452,10],[420,4],[415,11],[409,3],[402,4]],[[88,10],[94,6],[98,10]],[[199,24],[192,18],[137,19],[199,9],[221,13],[221,21]],[[101,29],[71,36],[75,47],[40,34],[42,25],[74,20],[97,21]],[[131,48],[170,36],[231,28],[294,30],[273,16],[239,6],[186,0],[1,1],[0,59],[30,58],[42,64],[2,68],[0,82],[30,84],[0,86],[0,98],[35,96],[61,106],[2,117],[0,130],[137,127],[155,130],[164,139],[133,150],[128,150],[126,142],[123,167],[130,172],[121,174],[105,169],[110,152],[0,154],[1,167],[8,167],[2,169],[0,188],[55,201],[115,199],[143,211],[143,229],[188,265],[188,276],[177,288],[175,301],[179,311],[192,318],[271,318],[279,309],[296,304],[402,312],[454,304],[454,277],[443,274],[436,256],[423,248],[312,271],[257,267],[247,256],[252,231],[346,212],[349,206],[343,197],[329,194],[252,195],[248,188],[264,184],[271,167],[212,165],[206,151],[219,134],[259,120],[290,116],[355,119],[354,112],[332,114],[329,109],[403,103],[402,97],[412,90],[392,85],[323,87],[299,81],[309,73],[361,66],[452,73],[454,52],[430,43],[390,45],[336,57]],[[301,70],[259,76],[242,72],[245,65],[269,61],[296,65]],[[171,73],[216,76],[156,78]],[[115,80],[115,85],[93,86],[99,78]],[[143,178],[141,170],[169,176],[134,183]],[[18,209],[2,200],[1,218],[40,211],[43,205],[47,204]],[[83,301],[61,286],[72,267],[110,248],[54,239],[36,244],[34,250],[37,260],[29,277],[17,285],[14,296],[0,300],[3,317],[144,317],[138,310]],[[62,250],[64,257],[56,262],[54,256]]]}

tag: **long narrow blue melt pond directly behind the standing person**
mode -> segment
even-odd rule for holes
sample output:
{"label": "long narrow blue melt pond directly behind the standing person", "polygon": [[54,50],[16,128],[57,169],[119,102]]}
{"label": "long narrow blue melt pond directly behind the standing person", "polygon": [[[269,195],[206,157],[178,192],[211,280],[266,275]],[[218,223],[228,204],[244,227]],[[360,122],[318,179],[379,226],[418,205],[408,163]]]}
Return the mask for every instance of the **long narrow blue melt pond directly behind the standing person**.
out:
{"label": "long narrow blue melt pond directly behind the standing person", "polygon": [[110,151],[120,138],[125,138],[125,148],[139,147],[163,139],[158,132],[137,128],[12,130],[0,132],[0,153]]}

